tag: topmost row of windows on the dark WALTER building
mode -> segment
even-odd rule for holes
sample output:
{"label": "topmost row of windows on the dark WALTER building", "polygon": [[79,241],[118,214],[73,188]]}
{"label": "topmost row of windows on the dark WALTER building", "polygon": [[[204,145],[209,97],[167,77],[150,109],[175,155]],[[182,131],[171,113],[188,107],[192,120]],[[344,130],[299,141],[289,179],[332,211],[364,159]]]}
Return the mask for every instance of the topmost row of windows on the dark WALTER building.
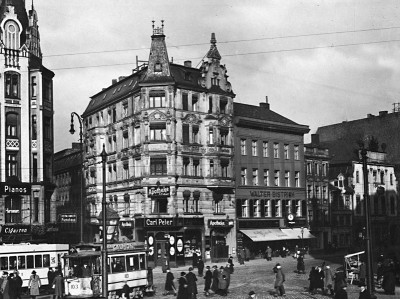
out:
{"label": "topmost row of windows on the dark WALTER building", "polygon": [[[247,139],[240,139],[240,153],[241,155],[245,156],[251,153],[254,157],[270,157],[270,143],[268,141],[259,141],[259,140],[251,140],[251,151],[249,151]],[[262,147],[261,147],[262,145]],[[278,142],[273,143],[273,157],[274,158],[281,158],[281,146],[282,144]],[[292,157],[294,160],[300,160],[300,152],[299,146],[293,146],[293,154]],[[289,144],[283,144],[283,158],[290,159],[290,146]]]}

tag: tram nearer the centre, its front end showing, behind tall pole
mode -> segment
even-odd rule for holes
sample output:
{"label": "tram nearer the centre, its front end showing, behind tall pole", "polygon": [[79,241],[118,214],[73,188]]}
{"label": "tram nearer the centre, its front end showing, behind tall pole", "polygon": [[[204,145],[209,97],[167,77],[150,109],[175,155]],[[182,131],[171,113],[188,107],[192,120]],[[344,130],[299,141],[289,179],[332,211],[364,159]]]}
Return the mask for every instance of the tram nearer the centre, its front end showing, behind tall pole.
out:
{"label": "tram nearer the centre, its front end showing, behind tall pole", "polygon": [[[102,295],[102,245],[80,244],[63,258],[66,298]],[[125,284],[130,288],[130,298],[143,297],[148,287],[147,250],[143,242],[107,244],[107,266],[108,298],[120,297]]]}

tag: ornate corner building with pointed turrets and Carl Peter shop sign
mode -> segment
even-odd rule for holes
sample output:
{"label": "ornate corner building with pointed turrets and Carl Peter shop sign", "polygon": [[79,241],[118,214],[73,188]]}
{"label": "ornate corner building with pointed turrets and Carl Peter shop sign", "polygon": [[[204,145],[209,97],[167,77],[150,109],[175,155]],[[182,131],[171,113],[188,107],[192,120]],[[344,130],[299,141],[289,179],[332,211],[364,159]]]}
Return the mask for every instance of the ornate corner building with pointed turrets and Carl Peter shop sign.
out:
{"label": "ornate corner building with pointed turrets and Carl Peter shop sign", "polygon": [[212,34],[200,68],[171,63],[164,26],[153,25],[148,63],[92,97],[83,119],[95,239],[105,145],[107,212],[118,218],[114,240],[146,241],[150,266],[191,264],[194,254],[226,260],[232,253],[235,94],[220,61]]}

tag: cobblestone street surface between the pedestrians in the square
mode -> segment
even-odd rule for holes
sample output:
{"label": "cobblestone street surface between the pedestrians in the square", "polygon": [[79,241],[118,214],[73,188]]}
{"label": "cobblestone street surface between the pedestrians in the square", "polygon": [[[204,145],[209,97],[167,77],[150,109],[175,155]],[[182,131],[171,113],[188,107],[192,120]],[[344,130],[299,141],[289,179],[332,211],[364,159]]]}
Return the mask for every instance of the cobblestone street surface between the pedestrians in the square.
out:
{"label": "cobblestone street surface between the pedestrians in the square", "polygon": [[[276,263],[280,263],[282,265],[282,269],[286,275],[285,289],[286,289],[286,298],[294,299],[294,298],[307,298],[307,299],[319,299],[319,298],[330,298],[329,296],[324,296],[320,293],[317,294],[309,294],[307,292],[307,287],[309,284],[308,281],[308,272],[312,266],[320,265],[324,260],[320,258],[312,258],[310,255],[306,256],[305,265],[306,265],[306,274],[297,274],[295,272],[296,269],[296,260],[292,257],[286,258],[274,258],[272,261],[268,262],[265,259],[255,259],[249,262],[246,262],[245,265],[239,265],[237,261],[234,261],[235,271],[231,275],[231,283],[229,286],[229,293],[226,298],[247,298],[247,294],[249,291],[253,290],[257,294],[257,298],[274,298],[274,273],[272,268]],[[340,258],[327,259],[326,264],[331,265],[332,272],[340,266]],[[213,266],[214,264],[206,263],[206,265]],[[218,268],[220,266],[224,266],[223,263],[216,264]],[[189,266],[180,267],[180,268],[172,268],[171,272],[175,276],[175,286],[178,286],[177,279],[180,276],[181,271],[188,272]],[[197,274],[197,269],[194,270],[194,273]],[[156,268],[154,270],[154,284],[157,287],[156,295],[153,298],[174,298],[174,296],[163,296],[162,292],[164,291],[164,282],[165,282],[165,273],[161,272],[161,268]],[[204,295],[204,279],[198,276],[198,299],[206,298]],[[358,299],[359,295],[359,287],[356,285],[349,285],[347,288],[349,299]],[[400,287],[396,287],[396,295],[385,295],[383,294],[382,289],[377,289],[376,293],[379,299],[399,299],[400,298]],[[212,295],[211,297],[218,298],[219,295]],[[207,297],[210,298],[210,297]]]}

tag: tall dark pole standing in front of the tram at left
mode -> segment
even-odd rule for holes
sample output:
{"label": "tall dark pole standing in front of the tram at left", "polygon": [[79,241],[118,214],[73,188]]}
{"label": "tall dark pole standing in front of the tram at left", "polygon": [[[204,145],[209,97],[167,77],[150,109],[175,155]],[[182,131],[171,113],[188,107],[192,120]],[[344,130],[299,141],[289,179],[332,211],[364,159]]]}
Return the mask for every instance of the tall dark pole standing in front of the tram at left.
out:
{"label": "tall dark pole standing in front of the tram at left", "polygon": [[103,212],[103,259],[102,259],[102,293],[103,298],[108,297],[108,267],[107,267],[107,202],[106,202],[106,162],[107,153],[105,145],[103,144],[103,151],[101,152],[101,162],[103,164],[103,200],[101,202]]}

